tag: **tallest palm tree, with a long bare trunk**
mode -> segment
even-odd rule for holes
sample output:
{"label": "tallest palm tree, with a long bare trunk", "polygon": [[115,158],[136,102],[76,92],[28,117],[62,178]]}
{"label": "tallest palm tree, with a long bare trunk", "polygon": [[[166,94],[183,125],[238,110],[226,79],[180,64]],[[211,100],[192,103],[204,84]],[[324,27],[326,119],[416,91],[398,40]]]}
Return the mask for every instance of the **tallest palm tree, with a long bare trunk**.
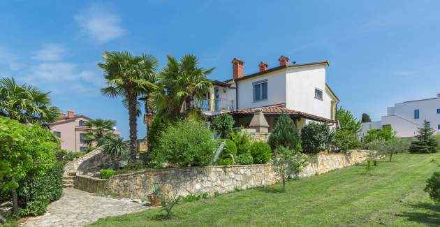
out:
{"label": "tallest palm tree, with a long bare trunk", "polygon": [[101,93],[112,98],[122,97],[129,109],[130,156],[136,158],[137,118],[140,115],[138,96],[146,94],[156,87],[157,60],[152,55],[133,56],[129,52],[104,52],[101,56],[105,63],[98,64],[104,70],[108,87]]}

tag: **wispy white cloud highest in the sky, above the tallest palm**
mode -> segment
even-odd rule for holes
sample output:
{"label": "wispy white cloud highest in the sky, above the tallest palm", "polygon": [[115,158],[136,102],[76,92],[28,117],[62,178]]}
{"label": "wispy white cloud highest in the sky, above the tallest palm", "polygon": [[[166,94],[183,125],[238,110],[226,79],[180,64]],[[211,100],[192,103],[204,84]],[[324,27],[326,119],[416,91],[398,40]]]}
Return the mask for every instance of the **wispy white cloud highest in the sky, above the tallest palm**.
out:
{"label": "wispy white cloud highest in the sky, above the tallest palm", "polygon": [[119,25],[118,15],[98,6],[91,6],[78,13],[75,20],[84,34],[100,44],[118,38],[125,32]]}

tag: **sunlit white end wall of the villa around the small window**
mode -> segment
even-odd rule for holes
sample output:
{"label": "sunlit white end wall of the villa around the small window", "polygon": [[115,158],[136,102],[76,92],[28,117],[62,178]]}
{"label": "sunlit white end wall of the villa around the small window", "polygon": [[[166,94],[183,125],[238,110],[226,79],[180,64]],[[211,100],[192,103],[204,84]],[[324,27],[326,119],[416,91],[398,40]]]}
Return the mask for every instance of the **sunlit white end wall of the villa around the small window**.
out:
{"label": "sunlit white end wall of the villa around the small window", "polygon": [[[325,66],[289,68],[286,87],[286,108],[331,118],[332,98],[325,91]],[[323,100],[315,98],[315,88],[323,91]]]}

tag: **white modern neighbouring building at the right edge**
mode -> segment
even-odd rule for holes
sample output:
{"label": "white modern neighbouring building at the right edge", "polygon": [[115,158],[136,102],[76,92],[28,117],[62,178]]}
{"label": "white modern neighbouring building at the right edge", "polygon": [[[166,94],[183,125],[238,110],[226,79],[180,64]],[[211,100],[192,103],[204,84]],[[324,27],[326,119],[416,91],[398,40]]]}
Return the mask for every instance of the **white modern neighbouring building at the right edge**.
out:
{"label": "white modern neighbouring building at the right edge", "polygon": [[362,135],[370,129],[382,129],[391,126],[399,137],[413,137],[418,135],[418,128],[427,121],[429,126],[440,133],[440,94],[436,98],[420,99],[396,103],[387,108],[387,115],[380,121],[363,123]]}

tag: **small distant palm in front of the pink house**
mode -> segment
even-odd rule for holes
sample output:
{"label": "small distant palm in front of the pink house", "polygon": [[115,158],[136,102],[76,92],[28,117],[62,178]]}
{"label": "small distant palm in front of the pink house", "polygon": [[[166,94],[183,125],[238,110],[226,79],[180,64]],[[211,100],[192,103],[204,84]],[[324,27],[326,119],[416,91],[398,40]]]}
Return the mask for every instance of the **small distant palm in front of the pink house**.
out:
{"label": "small distant palm in front of the pink house", "polygon": [[115,121],[106,119],[91,119],[85,122],[86,129],[84,142],[86,145],[93,145],[95,142],[100,145],[103,138],[112,135],[115,127]]}

